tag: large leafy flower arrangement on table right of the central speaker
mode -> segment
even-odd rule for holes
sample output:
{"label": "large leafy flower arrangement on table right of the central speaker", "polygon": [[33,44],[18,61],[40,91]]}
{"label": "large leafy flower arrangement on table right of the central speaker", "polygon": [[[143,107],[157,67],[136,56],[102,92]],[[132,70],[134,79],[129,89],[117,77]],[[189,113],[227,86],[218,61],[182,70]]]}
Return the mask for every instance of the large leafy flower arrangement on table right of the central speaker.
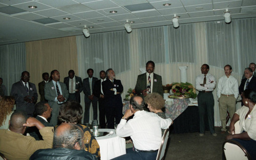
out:
{"label": "large leafy flower arrangement on table right of the central speaker", "polygon": [[196,88],[191,83],[173,83],[172,92],[178,97],[196,98]]}

